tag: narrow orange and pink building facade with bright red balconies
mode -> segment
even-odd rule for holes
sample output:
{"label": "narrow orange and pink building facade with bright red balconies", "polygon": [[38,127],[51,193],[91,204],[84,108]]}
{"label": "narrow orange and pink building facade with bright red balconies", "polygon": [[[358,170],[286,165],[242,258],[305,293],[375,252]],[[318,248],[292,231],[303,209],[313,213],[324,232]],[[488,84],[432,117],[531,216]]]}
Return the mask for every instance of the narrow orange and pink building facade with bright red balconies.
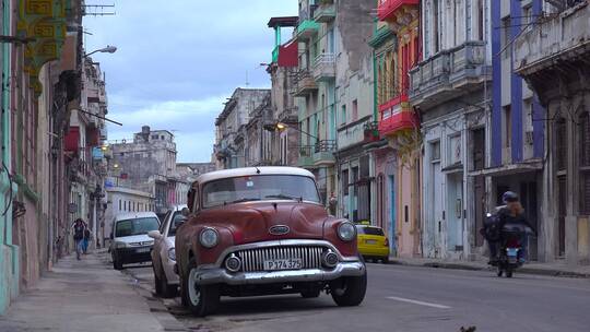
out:
{"label": "narrow orange and pink building facade with bright red balconies", "polygon": [[421,57],[418,1],[381,0],[377,13],[382,23],[377,24],[371,44],[376,48],[378,130],[389,145],[376,154],[379,223],[389,222],[390,244],[398,256],[415,257],[422,252],[422,139],[410,103],[409,71]]}

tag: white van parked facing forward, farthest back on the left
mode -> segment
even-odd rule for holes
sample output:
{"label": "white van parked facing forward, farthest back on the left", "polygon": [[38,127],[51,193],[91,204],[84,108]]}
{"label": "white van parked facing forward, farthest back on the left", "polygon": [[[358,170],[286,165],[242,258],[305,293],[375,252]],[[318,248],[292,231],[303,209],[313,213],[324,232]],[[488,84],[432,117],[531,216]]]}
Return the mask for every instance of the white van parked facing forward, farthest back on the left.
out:
{"label": "white van parked facing forward, farthest back on the left", "polygon": [[148,233],[158,227],[160,220],[153,212],[131,212],[116,215],[110,233],[113,268],[121,270],[123,264],[151,261],[150,252],[154,240],[148,236]]}

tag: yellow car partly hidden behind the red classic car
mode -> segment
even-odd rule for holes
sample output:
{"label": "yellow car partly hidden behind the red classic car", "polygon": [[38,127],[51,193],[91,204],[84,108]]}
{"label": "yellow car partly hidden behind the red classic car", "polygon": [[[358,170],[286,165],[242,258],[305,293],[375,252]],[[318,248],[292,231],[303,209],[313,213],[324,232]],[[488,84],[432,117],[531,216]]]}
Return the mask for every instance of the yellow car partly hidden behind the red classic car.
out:
{"label": "yellow car partly hidden behind the red classic car", "polygon": [[358,236],[356,238],[358,252],[365,259],[381,260],[384,264],[389,262],[389,239],[385,236],[381,227],[369,225],[356,225]]}

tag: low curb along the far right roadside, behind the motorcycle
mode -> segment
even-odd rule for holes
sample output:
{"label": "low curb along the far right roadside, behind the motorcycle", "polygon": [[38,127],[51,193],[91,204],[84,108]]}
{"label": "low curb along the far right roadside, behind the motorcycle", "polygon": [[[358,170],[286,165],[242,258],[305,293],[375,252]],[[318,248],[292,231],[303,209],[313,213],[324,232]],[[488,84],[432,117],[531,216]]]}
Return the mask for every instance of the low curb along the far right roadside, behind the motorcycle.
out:
{"label": "low curb along the far right roadside, behind the motorcycle", "polygon": [[[390,259],[389,264],[393,265],[403,265],[403,266],[416,266],[416,268],[430,268],[430,269],[447,269],[447,270],[464,270],[464,271],[493,271],[495,269],[491,266],[476,266],[468,265],[456,262],[409,262],[397,259]],[[579,277],[579,278],[590,278],[590,273],[580,273],[574,271],[562,271],[555,269],[538,269],[538,268],[519,268],[516,270],[518,273],[524,274],[536,274],[545,276],[557,276],[557,277]]]}

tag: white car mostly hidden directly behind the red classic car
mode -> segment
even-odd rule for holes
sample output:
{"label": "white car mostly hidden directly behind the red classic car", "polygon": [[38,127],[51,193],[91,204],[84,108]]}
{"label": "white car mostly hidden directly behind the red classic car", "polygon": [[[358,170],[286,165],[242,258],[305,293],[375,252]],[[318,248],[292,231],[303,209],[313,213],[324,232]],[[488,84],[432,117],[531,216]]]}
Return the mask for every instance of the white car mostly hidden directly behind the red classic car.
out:
{"label": "white car mostly hidden directly behind the red classic car", "polygon": [[152,266],[154,269],[155,289],[156,294],[162,297],[173,297],[178,289],[178,275],[174,272],[174,265],[176,264],[174,241],[176,228],[187,220],[185,216],[185,214],[188,214],[187,212],[187,205],[174,206],[164,216],[160,229],[152,230],[149,234],[154,239]]}

